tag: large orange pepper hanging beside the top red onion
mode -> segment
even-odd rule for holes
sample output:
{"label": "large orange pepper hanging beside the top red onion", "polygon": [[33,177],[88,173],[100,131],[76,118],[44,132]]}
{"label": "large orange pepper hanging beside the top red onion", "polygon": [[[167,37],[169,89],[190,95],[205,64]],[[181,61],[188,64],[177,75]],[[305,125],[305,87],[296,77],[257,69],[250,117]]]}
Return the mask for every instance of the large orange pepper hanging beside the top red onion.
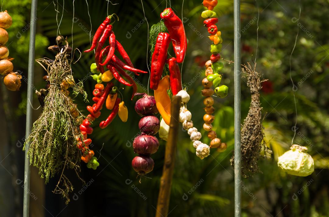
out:
{"label": "large orange pepper hanging beside the top red onion", "polygon": [[164,122],[169,125],[170,124],[170,108],[171,108],[171,100],[168,96],[167,90],[169,89],[169,75],[164,76],[163,79],[159,82],[158,89],[154,90],[154,98],[161,114]]}

